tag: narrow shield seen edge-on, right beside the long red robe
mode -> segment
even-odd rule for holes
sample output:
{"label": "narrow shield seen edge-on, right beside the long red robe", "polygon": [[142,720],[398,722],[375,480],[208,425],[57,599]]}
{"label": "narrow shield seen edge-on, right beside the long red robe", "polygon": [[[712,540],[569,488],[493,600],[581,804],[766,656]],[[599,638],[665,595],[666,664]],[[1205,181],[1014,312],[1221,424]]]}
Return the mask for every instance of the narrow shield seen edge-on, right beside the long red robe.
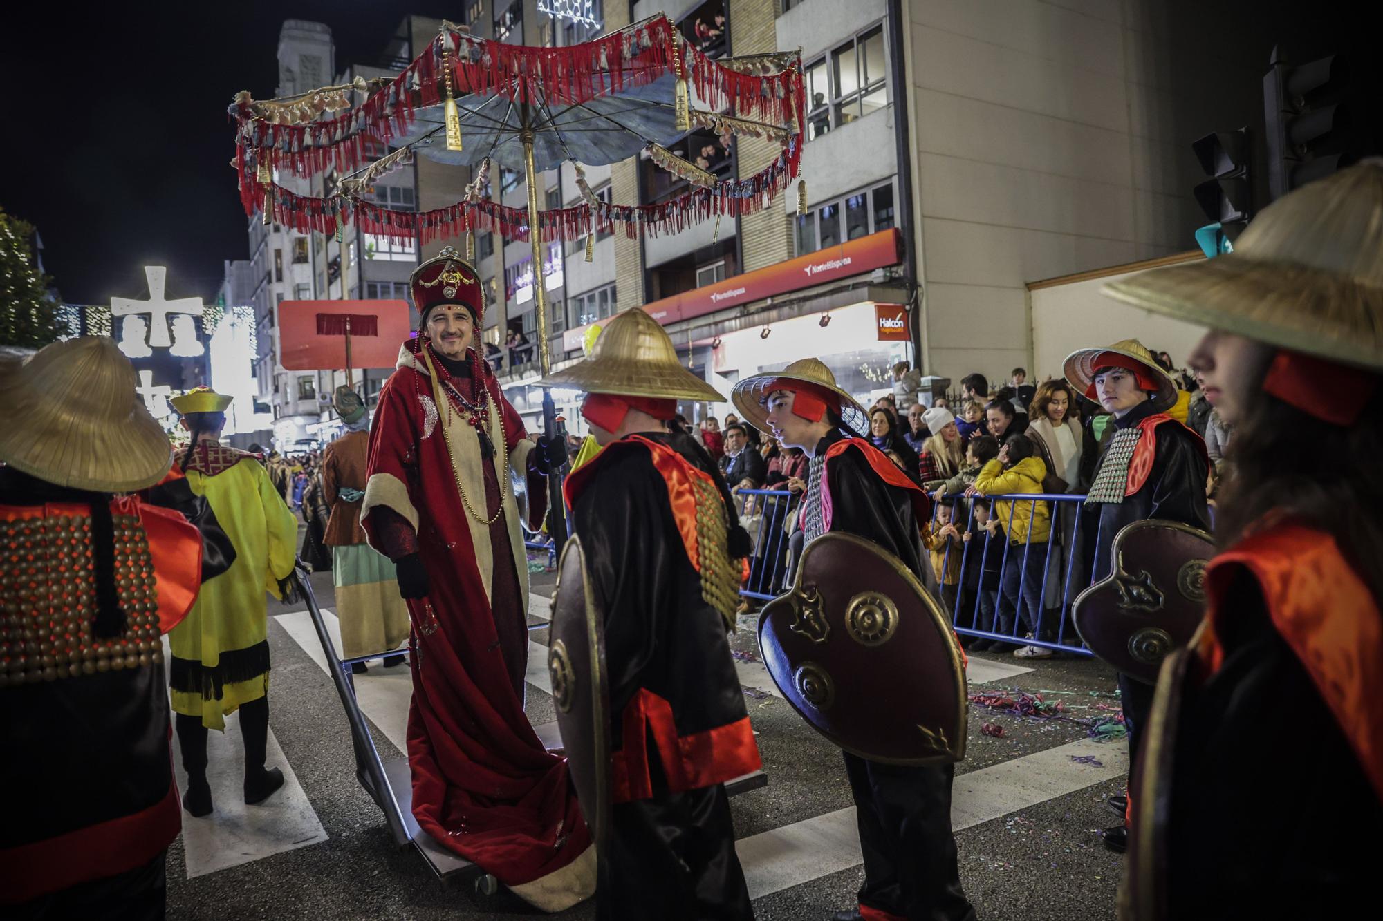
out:
{"label": "narrow shield seen edge-on, right beside the long red robe", "polygon": [[552,603],[548,673],[557,729],[597,852],[610,832],[610,691],[604,618],[591,592],[581,541],[567,539]]}

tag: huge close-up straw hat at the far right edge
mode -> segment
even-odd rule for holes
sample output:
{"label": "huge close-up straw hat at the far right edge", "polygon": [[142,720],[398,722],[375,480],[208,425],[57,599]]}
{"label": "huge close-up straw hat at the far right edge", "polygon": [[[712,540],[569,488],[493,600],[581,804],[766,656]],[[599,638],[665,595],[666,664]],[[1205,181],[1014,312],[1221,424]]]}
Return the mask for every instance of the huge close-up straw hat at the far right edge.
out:
{"label": "huge close-up straw hat at the far right edge", "polygon": [[1116,300],[1383,371],[1383,159],[1268,205],[1234,252],[1108,285]]}

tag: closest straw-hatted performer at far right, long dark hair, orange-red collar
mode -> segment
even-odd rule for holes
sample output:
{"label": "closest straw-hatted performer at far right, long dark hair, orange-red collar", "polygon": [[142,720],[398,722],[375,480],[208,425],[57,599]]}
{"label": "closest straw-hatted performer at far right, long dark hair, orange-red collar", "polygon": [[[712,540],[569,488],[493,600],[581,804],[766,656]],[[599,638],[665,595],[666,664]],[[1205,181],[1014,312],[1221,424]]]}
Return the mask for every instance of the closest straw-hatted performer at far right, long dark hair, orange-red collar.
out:
{"label": "closest straw-hatted performer at far right, long dark hair, orange-red collar", "polygon": [[1135,766],[1122,917],[1355,914],[1383,823],[1383,159],[1268,205],[1231,254],[1105,292],[1210,328],[1189,362],[1234,426],[1206,618]]}

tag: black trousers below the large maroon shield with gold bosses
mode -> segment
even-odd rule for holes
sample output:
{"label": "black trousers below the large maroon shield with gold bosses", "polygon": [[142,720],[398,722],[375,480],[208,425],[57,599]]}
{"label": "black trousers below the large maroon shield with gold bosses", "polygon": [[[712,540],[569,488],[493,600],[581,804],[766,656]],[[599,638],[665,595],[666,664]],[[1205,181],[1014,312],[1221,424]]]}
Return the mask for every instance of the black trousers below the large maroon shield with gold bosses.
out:
{"label": "black trousers below the large maroon shield with gold bosses", "polygon": [[954,765],[882,765],[845,752],[864,853],[862,906],[909,921],[972,921],[950,827]]}

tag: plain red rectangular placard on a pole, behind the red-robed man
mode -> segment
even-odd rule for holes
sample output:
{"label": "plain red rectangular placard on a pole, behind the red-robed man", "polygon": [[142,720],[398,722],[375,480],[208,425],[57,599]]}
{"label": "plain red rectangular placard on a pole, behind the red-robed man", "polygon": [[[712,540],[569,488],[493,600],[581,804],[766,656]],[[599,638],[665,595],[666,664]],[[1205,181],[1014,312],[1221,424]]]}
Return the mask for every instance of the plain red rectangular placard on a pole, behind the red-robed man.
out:
{"label": "plain red rectangular placard on a pole, behind the red-robed man", "polygon": [[[365,331],[365,335],[353,333],[350,337],[350,366],[393,368],[398,361],[398,347],[412,332],[405,300],[285,300],[278,306],[279,360],[284,368],[344,368],[346,317]],[[366,322],[357,319],[361,317]],[[371,318],[373,324],[368,322]]]}

